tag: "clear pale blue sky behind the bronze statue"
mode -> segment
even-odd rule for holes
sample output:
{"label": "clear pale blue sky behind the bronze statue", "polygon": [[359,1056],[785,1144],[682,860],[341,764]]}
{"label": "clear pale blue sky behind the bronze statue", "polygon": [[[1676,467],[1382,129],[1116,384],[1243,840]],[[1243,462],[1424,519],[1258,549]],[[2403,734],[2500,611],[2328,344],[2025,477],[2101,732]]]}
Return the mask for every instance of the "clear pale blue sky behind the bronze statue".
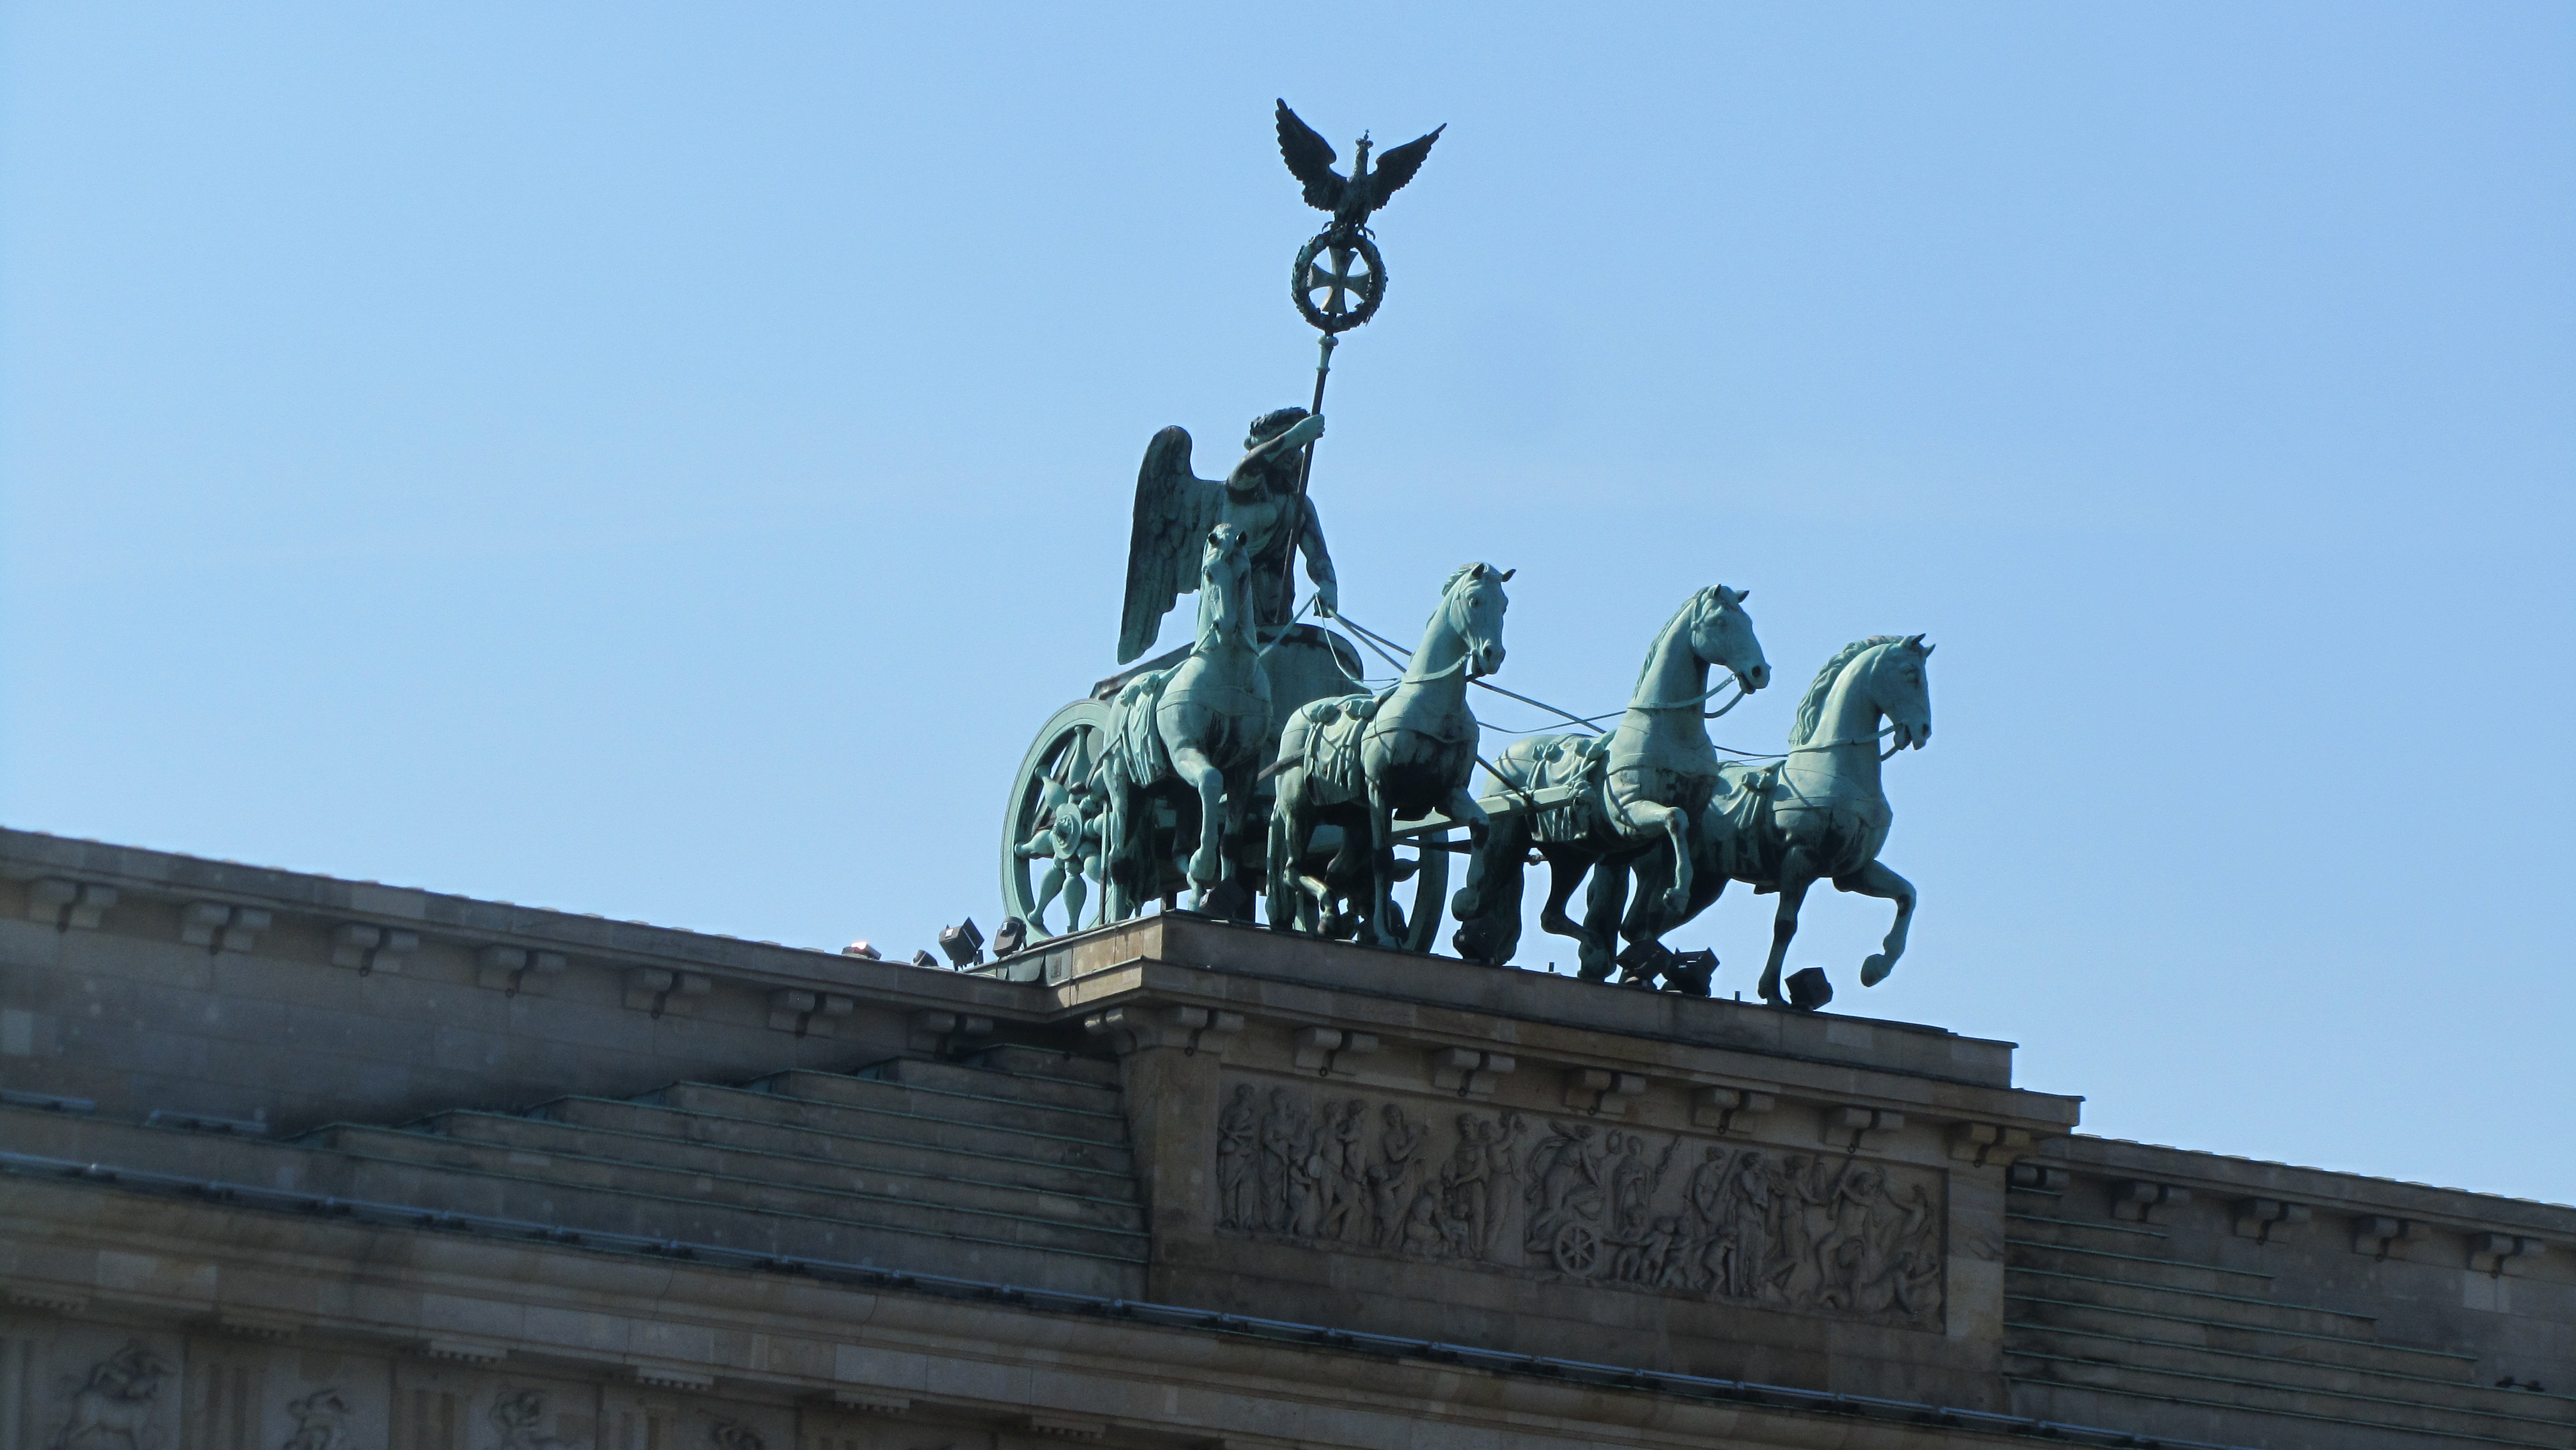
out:
{"label": "clear pale blue sky behind the bronze statue", "polygon": [[[786,943],[994,919],[1144,440],[1301,402],[1270,144],[1450,124],[1316,458],[1775,749],[1929,631],[1837,1007],[2102,1133],[2576,1200],[2576,10],[18,5],[0,819]],[[1492,711],[1528,726],[1528,713]],[[1770,899],[1674,945],[1749,986]],[[1561,948],[1561,950],[1551,950]],[[1528,937],[1522,958],[1571,961]]]}

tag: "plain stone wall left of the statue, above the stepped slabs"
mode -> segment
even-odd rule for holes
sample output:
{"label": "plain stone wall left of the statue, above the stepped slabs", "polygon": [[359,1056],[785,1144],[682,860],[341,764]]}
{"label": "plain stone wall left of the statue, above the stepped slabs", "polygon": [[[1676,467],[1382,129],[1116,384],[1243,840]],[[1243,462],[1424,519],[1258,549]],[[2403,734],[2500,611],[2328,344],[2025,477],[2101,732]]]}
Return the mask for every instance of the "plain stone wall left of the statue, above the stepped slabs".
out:
{"label": "plain stone wall left of the statue, above the stepped slabs", "polygon": [[0,832],[0,1087],[296,1133],[940,1048],[1041,992]]}

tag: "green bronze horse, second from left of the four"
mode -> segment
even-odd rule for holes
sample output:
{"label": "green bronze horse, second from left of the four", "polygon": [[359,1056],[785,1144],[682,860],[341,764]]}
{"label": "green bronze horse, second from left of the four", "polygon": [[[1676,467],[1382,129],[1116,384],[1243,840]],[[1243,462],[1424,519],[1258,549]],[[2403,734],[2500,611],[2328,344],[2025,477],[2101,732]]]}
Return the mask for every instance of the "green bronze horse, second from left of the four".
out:
{"label": "green bronze horse, second from left of the four", "polygon": [[[1270,806],[1270,925],[1314,932],[1342,894],[1358,896],[1360,940],[1399,945],[1396,816],[1445,811],[1484,837],[1486,811],[1468,780],[1476,773],[1471,677],[1502,670],[1502,592],[1510,569],[1463,564],[1440,590],[1440,608],[1383,695],[1314,701],[1280,734],[1278,798]],[[1342,845],[1321,876],[1306,868],[1319,824],[1340,827]],[[1352,883],[1365,881],[1355,894]],[[1461,891],[1473,896],[1473,886]],[[1437,912],[1417,901],[1417,912]]]}

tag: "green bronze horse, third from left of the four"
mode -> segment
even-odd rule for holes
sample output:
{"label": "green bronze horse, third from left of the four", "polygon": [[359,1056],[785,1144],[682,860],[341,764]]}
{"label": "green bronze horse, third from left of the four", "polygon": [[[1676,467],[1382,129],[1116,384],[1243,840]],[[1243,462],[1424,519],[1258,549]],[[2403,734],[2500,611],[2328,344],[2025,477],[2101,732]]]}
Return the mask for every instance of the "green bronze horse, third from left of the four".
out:
{"label": "green bronze horse, third from left of the four", "polygon": [[[1497,966],[1512,961],[1520,945],[1522,865],[1533,845],[1548,863],[1548,904],[1540,925],[1582,943],[1582,976],[1589,981],[1610,976],[1618,935],[1595,927],[1589,914],[1582,925],[1566,917],[1566,899],[1587,873],[1600,873],[1595,894],[1610,876],[1618,876],[1625,894],[1628,865],[1662,850],[1664,860],[1680,860],[1682,871],[1664,871],[1669,886],[1656,899],[1638,901],[1633,930],[1638,940],[1656,940],[1687,919],[1692,842],[1700,834],[1700,816],[1721,791],[1708,719],[1726,711],[1703,706],[1728,683],[1744,695],[1770,683],[1770,662],[1762,659],[1754,621],[1744,613],[1747,592],[1708,585],[1682,600],[1646,646],[1636,690],[1607,737],[1533,734],[1494,757],[1507,791],[1577,786],[1579,796],[1571,806],[1512,814],[1484,834],[1455,904],[1458,956]],[[1726,670],[1726,680],[1716,688],[1708,685],[1713,667]],[[1613,912],[1613,925],[1615,919]]]}

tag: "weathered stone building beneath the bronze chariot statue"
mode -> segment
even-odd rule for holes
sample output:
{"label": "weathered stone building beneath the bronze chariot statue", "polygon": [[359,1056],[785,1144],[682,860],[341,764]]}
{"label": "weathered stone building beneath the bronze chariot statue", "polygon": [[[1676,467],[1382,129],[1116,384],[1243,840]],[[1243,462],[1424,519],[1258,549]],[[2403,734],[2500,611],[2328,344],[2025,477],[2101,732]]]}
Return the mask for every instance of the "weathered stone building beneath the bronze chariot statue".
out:
{"label": "weathered stone building beneath the bronze chariot statue", "polygon": [[2576,1447],[2576,1210],[1940,1028],[28,832],[0,917],[0,1450]]}

